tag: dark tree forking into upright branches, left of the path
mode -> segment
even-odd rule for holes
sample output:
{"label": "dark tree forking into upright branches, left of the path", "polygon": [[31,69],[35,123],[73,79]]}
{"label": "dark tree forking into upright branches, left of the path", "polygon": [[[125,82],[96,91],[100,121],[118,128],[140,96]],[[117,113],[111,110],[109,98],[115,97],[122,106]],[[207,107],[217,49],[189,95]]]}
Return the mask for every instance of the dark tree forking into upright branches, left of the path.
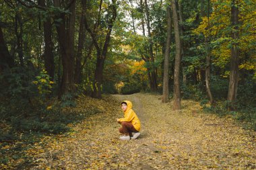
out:
{"label": "dark tree forking into upright branches, left of the path", "polygon": [[[92,37],[92,42],[96,48],[97,53],[97,61],[96,61],[96,69],[94,71],[94,83],[93,83],[93,92],[92,97],[101,98],[101,86],[102,86],[102,78],[103,78],[103,69],[104,69],[104,61],[106,60],[106,54],[108,52],[108,46],[110,42],[110,35],[113,30],[113,24],[117,17],[117,3],[116,0],[112,1],[112,4],[108,6],[108,11],[106,14],[106,35],[104,38],[104,42],[100,42],[99,36],[102,36],[103,28],[100,26],[101,17],[102,17],[102,0],[100,1],[99,10],[98,10],[98,19],[94,24],[93,30],[90,28],[88,23],[88,18],[86,17],[85,26],[86,30],[89,32]],[[99,31],[100,30],[100,31]],[[102,45],[103,44],[103,45]]]}

